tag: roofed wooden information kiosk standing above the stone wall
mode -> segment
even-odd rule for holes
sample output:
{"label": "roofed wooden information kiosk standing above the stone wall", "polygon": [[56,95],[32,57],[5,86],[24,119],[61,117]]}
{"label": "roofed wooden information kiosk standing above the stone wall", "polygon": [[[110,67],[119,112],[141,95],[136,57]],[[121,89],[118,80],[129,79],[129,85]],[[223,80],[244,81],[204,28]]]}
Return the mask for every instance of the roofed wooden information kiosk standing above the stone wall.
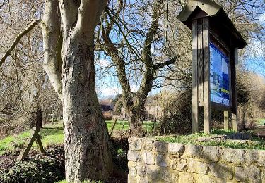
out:
{"label": "roofed wooden information kiosk standing above the stone wall", "polygon": [[235,65],[245,40],[223,8],[211,0],[189,1],[177,18],[192,30],[192,132],[199,131],[199,108],[204,108],[204,132],[211,132],[211,108],[228,111],[237,131]]}

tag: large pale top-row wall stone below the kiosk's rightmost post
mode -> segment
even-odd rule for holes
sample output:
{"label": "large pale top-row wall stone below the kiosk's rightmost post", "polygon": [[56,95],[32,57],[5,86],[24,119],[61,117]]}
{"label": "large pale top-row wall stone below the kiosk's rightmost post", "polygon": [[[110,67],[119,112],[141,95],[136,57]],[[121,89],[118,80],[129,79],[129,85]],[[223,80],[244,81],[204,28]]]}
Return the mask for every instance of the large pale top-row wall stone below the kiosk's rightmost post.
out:
{"label": "large pale top-row wall stone below the kiosk's rightmost post", "polygon": [[221,159],[237,165],[245,163],[245,151],[242,149],[222,149]]}

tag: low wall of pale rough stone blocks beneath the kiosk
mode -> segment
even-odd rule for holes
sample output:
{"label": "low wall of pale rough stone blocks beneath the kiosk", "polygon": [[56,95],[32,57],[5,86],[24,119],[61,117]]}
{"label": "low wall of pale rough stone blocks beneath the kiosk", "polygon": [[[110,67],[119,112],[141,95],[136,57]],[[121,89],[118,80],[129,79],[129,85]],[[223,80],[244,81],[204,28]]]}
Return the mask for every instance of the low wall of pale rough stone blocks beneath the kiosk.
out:
{"label": "low wall of pale rough stone blocks beneath the kiosk", "polygon": [[128,182],[264,182],[265,151],[129,138]]}

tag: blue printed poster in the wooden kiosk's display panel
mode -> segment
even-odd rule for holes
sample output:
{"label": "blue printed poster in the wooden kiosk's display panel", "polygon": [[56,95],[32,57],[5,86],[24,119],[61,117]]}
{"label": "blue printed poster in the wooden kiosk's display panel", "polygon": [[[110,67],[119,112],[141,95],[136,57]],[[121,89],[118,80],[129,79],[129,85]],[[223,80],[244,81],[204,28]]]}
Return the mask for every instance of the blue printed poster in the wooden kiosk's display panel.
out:
{"label": "blue printed poster in the wooden kiosk's display panel", "polygon": [[228,57],[210,42],[210,89],[211,101],[230,106]]}

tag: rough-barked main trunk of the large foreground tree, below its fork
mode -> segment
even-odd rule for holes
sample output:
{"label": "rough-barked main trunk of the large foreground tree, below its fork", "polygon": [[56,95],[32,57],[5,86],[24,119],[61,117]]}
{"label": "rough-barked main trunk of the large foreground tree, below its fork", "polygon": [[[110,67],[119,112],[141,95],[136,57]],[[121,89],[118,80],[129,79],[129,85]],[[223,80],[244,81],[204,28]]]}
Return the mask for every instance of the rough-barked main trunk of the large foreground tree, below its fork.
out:
{"label": "rough-barked main trunk of the large foreground tree, below its fork", "polygon": [[95,92],[93,46],[66,45],[63,70],[64,146],[67,182],[107,179],[112,171],[107,125]]}

